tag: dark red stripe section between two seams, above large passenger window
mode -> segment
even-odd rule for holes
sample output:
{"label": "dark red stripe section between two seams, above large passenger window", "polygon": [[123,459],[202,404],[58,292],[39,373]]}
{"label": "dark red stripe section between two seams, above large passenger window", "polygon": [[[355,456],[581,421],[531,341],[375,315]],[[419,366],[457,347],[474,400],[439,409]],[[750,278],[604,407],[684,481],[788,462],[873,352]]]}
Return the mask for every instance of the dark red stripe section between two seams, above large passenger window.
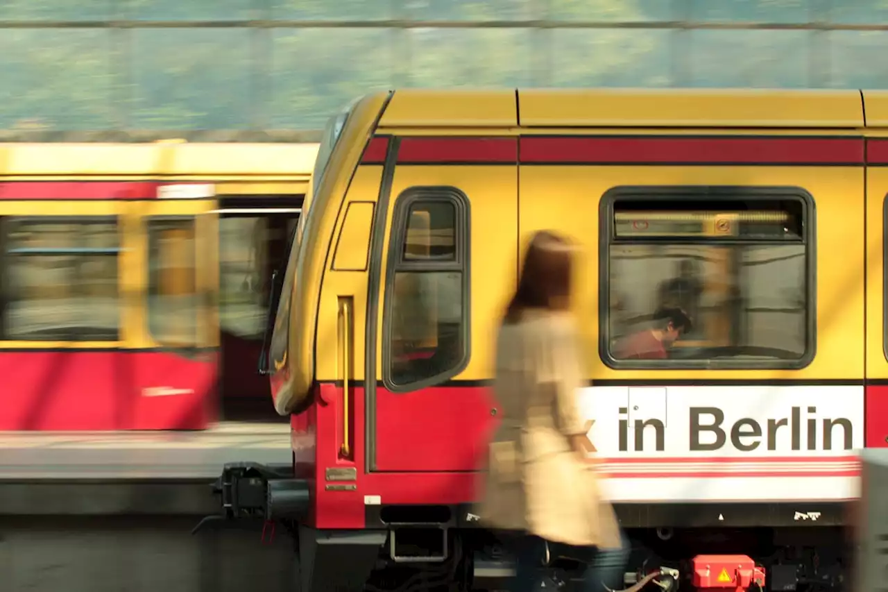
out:
{"label": "dark red stripe section between two seams, above large passenger window", "polygon": [[520,140],[521,164],[862,164],[859,138],[547,137]]}

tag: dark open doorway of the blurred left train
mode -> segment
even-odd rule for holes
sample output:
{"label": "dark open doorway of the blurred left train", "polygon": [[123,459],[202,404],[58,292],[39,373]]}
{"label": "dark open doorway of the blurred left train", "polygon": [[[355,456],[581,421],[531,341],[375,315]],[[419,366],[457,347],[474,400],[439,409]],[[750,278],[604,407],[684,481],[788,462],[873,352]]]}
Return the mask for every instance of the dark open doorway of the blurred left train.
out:
{"label": "dark open doorway of the blurred left train", "polygon": [[219,196],[219,388],[226,419],[275,415],[268,380],[256,368],[272,276],[275,270],[283,274],[302,200],[301,195]]}

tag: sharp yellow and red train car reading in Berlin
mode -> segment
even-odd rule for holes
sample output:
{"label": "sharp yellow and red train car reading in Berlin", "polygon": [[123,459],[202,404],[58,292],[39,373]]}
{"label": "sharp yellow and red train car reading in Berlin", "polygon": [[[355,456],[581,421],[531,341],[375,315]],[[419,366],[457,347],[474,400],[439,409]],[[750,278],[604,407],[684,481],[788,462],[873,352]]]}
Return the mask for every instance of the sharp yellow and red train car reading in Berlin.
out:
{"label": "sharp yellow and red train car reading in Berlin", "polygon": [[[357,101],[329,124],[269,317],[292,467],[226,467],[226,516],[297,525],[294,589],[496,588],[511,568],[472,510],[494,336],[551,228],[583,246],[582,404],[627,579],[844,588],[856,451],[888,445],[886,128],[882,92]],[[669,302],[694,332],[622,355]],[[551,559],[564,581],[581,567]]]}

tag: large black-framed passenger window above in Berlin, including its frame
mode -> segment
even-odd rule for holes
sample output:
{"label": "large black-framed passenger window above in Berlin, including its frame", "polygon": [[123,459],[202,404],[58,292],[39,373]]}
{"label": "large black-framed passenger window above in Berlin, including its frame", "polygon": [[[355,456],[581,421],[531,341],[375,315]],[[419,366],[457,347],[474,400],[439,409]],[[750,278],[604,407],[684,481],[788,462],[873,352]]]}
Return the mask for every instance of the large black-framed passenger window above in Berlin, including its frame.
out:
{"label": "large black-framed passenger window above in Berlin, including its frame", "polygon": [[[786,188],[615,188],[601,353],[614,367],[799,368],[814,351],[813,200]],[[689,322],[688,322],[689,321]]]}

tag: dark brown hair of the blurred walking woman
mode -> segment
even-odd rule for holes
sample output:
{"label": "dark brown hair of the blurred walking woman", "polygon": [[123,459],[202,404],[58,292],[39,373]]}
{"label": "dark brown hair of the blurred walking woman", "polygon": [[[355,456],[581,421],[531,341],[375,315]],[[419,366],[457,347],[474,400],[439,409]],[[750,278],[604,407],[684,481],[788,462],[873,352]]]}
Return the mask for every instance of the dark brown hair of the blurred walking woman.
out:
{"label": "dark brown hair of the blurred walking woman", "polygon": [[506,308],[505,323],[517,323],[527,308],[555,309],[570,295],[573,245],[548,230],[530,239],[521,265],[518,290]]}

